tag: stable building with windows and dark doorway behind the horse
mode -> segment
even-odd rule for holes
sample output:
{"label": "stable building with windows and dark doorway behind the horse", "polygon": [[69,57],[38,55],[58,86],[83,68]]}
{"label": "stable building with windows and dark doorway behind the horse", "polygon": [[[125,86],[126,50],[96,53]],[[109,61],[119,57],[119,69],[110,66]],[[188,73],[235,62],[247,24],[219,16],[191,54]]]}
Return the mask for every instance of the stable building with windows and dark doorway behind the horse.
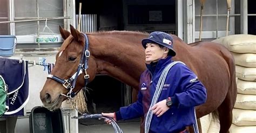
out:
{"label": "stable building with windows and dark doorway behind the horse", "polygon": [[[199,41],[199,38],[207,41],[218,39],[226,36],[226,31],[228,35],[256,35],[256,2],[253,0],[231,1],[229,15],[226,1],[206,0],[202,17],[202,3],[199,0],[0,0],[0,3],[0,35],[17,37],[15,55],[11,58],[30,61],[38,61],[39,57],[44,57],[46,62],[55,62],[55,55],[63,42],[59,25],[66,29],[73,25],[81,32],[163,31],[179,36],[186,43]],[[79,3],[82,3],[80,24]],[[29,132],[29,114],[33,107],[42,106],[39,92],[47,75],[41,66],[29,68],[30,96],[34,97],[30,97],[24,108],[26,115],[18,117],[17,122],[15,119],[1,117],[0,132],[12,132],[14,127],[14,131]],[[90,95],[93,101],[91,103],[96,104],[96,110],[91,108],[91,111],[107,109],[113,112],[132,102],[132,88],[109,76],[96,76],[88,87],[93,90]],[[106,95],[111,95],[111,99],[106,99]],[[116,102],[112,104],[113,101]],[[77,114],[69,107],[64,107],[64,110]],[[64,121],[65,132],[78,132],[77,120],[71,120],[64,114]]]}

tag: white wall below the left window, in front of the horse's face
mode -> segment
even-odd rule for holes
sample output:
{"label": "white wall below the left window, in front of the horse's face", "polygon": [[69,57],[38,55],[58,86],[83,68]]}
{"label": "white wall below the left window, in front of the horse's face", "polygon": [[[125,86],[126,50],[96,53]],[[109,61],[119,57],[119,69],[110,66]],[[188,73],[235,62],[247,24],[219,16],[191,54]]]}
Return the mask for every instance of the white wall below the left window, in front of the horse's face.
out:
{"label": "white wall below the left window, in front of the horse's face", "polygon": [[[54,49],[54,48],[53,48]],[[47,53],[41,51],[32,51],[32,52],[22,52],[16,50],[15,56],[10,58],[17,59],[21,58],[21,53],[24,55],[23,59],[27,61],[36,61],[39,62],[39,57],[46,58],[46,63],[55,63],[55,55],[57,53],[57,49],[53,51],[48,51]],[[29,64],[31,66],[31,64]],[[35,65],[29,67],[29,101],[28,104],[24,107],[25,116],[18,117],[15,127],[15,132],[29,132],[29,115],[33,107],[43,106],[41,99],[39,97],[39,93],[43,88],[43,85],[46,81],[46,77],[48,75],[48,71],[43,71],[44,67],[40,65]],[[63,104],[63,110],[65,112],[70,113],[71,115],[76,115],[77,112],[75,110],[70,110],[70,108]],[[78,132],[78,120],[71,119],[70,116],[63,114],[65,132]]]}

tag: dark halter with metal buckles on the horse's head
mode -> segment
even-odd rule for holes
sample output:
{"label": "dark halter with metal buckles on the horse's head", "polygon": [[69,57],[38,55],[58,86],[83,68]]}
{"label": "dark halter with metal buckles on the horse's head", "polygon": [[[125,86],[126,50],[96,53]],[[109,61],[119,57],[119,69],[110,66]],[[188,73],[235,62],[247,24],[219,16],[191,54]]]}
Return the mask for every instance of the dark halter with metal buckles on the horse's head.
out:
{"label": "dark halter with metal buckles on the horse's head", "polygon": [[89,78],[90,76],[87,74],[87,69],[88,69],[88,58],[90,57],[90,51],[88,50],[89,48],[89,40],[86,34],[82,33],[84,38],[85,38],[85,46],[84,46],[84,50],[83,50],[83,54],[82,57],[80,59],[77,71],[75,74],[72,75],[72,77],[70,77],[69,79],[62,79],[59,78],[57,76],[54,75],[48,75],[47,78],[53,79],[58,83],[61,83],[66,89],[69,90],[68,94],[62,94],[65,97],[68,98],[73,98],[75,97],[77,92],[73,92],[73,88],[75,88],[76,86],[76,82],[77,82],[77,77],[83,73],[84,70],[84,79],[85,79],[85,86],[87,85],[87,83],[89,82]]}

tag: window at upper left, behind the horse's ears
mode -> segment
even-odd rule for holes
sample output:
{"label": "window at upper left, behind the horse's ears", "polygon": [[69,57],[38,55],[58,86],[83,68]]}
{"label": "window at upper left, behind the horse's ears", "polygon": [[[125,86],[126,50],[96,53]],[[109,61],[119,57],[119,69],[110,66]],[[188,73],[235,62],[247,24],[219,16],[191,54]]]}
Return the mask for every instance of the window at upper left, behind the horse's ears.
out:
{"label": "window at upper left, behind the horse's ears", "polygon": [[[64,27],[64,19],[67,18],[64,2],[64,0],[0,0],[0,34],[16,35],[18,45],[38,43],[40,47],[40,43],[62,42],[59,25]],[[15,21],[15,23],[3,23],[3,21]],[[38,42],[38,38],[52,37],[57,40]]]}

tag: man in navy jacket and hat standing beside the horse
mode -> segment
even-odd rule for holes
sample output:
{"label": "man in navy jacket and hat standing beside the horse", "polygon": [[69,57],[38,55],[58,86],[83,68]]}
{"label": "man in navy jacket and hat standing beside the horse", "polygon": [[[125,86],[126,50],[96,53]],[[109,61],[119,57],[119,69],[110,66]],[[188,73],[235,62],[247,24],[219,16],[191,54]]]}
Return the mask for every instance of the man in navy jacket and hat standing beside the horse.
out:
{"label": "man in navy jacket and hat standing beside the horse", "polygon": [[[186,132],[195,121],[194,107],[206,101],[206,88],[185,64],[177,63],[169,70],[157,104],[150,108],[156,86],[165,67],[176,55],[173,38],[164,32],[152,32],[142,40],[147,69],[140,76],[138,100],[115,113],[102,113],[115,121],[129,120],[153,112],[149,132]],[[105,120],[110,124],[111,120]],[[145,119],[143,122],[145,125]]]}

